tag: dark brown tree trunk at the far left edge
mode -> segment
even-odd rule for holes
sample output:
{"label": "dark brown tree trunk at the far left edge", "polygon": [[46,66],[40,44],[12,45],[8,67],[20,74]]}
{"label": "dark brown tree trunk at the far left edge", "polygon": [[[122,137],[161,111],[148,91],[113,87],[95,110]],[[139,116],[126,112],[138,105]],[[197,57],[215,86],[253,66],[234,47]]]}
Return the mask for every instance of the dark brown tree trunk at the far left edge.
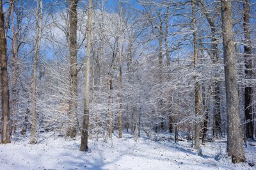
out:
{"label": "dark brown tree trunk at the far left edge", "polygon": [[7,72],[6,36],[4,34],[3,2],[0,0],[0,61],[1,61],[1,104],[2,104],[2,139],[1,143],[11,143],[10,104]]}

